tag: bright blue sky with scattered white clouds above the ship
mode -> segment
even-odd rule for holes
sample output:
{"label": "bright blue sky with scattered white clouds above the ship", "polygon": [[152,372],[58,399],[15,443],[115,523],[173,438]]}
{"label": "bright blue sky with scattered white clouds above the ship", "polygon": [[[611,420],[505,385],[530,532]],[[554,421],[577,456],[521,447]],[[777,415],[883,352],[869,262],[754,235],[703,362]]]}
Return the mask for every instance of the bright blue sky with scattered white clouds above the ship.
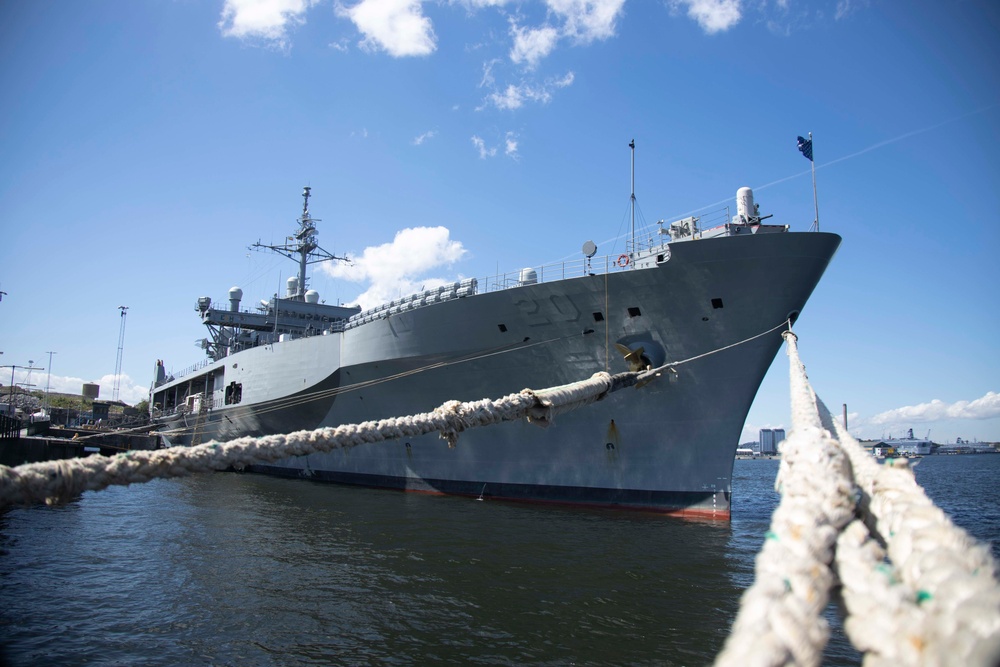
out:
{"label": "bright blue sky with scattered white clouds above the ship", "polygon": [[[621,252],[633,138],[641,219],[746,185],[805,231],[812,132],[817,392],[862,437],[1000,440],[998,35],[988,1],[0,0],[0,363],[110,398],[125,305],[137,402],[200,358],[199,296],[291,274],[247,246],[304,185],[355,259],[328,302]],[[744,440],[787,384],[779,353]]]}

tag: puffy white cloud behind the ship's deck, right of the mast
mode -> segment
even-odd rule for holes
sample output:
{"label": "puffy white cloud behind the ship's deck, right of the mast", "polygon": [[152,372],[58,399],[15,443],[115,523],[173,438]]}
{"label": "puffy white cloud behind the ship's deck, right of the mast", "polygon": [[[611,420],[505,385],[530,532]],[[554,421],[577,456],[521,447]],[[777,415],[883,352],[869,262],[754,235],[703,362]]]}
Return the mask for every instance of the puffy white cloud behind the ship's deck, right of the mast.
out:
{"label": "puffy white cloud behind the ship's deck, right of the mast", "polygon": [[446,227],[411,227],[397,232],[391,243],[365,248],[359,257],[352,257],[350,265],[325,262],[321,266],[335,278],[370,283],[356,303],[371,308],[452,282],[425,274],[450,266],[465,254],[465,248],[459,241],[451,240]]}

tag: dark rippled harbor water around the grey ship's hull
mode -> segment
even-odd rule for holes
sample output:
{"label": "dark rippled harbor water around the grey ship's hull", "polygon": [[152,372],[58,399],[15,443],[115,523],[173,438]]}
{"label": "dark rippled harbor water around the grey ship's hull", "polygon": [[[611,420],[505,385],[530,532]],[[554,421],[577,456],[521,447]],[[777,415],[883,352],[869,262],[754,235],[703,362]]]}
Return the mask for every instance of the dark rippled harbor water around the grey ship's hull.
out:
{"label": "dark rippled harbor water around the grey ship's hull", "polygon": [[[731,523],[218,473],[0,513],[4,665],[702,665],[777,502]],[[998,555],[1000,455],[918,481]],[[858,664],[835,623],[824,664]]]}

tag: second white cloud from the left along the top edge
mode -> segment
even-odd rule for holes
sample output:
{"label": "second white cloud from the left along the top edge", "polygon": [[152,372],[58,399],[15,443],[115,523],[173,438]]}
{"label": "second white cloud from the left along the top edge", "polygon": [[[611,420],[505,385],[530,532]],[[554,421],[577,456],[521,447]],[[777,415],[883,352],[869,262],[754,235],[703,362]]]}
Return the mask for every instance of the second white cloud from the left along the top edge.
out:
{"label": "second white cloud from the left along the top edge", "polygon": [[363,49],[382,49],[396,58],[426,56],[437,48],[434,28],[422,10],[420,0],[361,0],[336,8],[365,36]]}

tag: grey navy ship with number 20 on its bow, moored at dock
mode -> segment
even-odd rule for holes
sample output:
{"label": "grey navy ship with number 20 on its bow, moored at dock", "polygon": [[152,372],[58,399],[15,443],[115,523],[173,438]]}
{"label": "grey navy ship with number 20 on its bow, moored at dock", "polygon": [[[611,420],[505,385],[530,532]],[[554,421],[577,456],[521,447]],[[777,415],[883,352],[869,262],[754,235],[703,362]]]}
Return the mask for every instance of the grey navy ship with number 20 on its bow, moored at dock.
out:
{"label": "grey navy ship with number 20 on its bow, moored at dock", "polygon": [[[634,189],[634,188],[633,188]],[[754,396],[840,237],[764,224],[749,188],[737,214],[697,217],[599,257],[466,279],[384,303],[322,303],[307,267],[310,188],[298,229],[260,248],[298,262],[287,293],[244,308],[202,297],[206,357],[156,363],[151,417],[168,444],[360,423],[677,363],[639,388],[560,415],[291,457],[252,470],[288,477],[728,519],[737,443]],[[770,217],[770,216],[767,216]],[[716,222],[719,222],[717,220]]]}

